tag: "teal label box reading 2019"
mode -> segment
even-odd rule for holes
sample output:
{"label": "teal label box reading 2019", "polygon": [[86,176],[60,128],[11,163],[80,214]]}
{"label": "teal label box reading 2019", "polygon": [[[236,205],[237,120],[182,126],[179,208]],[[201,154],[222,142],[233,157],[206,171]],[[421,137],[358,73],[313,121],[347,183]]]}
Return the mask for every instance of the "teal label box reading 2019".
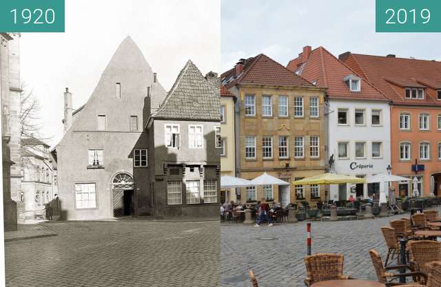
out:
{"label": "teal label box reading 2019", "polygon": [[441,32],[441,1],[376,0],[376,32]]}

